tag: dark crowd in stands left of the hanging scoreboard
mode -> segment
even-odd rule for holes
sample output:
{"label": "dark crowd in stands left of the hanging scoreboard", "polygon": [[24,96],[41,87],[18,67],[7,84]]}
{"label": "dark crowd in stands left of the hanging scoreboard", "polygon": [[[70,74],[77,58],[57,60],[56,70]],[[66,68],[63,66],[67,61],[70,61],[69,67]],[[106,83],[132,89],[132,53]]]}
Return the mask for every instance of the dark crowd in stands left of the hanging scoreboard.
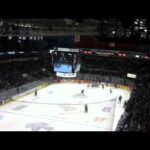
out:
{"label": "dark crowd in stands left of the hanging scoreboard", "polygon": [[42,60],[0,63],[0,90],[49,77],[51,64]]}

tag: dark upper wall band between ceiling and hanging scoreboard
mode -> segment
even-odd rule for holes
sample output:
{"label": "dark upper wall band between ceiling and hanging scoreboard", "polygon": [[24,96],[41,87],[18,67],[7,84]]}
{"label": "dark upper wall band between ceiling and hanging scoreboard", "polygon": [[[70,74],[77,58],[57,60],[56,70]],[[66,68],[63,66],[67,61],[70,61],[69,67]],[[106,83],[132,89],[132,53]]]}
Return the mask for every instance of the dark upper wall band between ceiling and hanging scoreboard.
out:
{"label": "dark upper wall band between ceiling and hanging scoreboard", "polygon": [[79,41],[75,41],[74,36],[52,36],[44,37],[43,40],[21,40],[18,42],[18,37],[13,37],[8,40],[8,37],[0,37],[0,52],[4,51],[25,51],[30,53],[32,50],[44,52],[53,47],[68,47],[68,48],[102,48],[115,50],[129,51],[145,51],[150,52],[150,43],[141,44],[139,42],[124,42],[111,39],[101,40],[97,36],[80,36]]}

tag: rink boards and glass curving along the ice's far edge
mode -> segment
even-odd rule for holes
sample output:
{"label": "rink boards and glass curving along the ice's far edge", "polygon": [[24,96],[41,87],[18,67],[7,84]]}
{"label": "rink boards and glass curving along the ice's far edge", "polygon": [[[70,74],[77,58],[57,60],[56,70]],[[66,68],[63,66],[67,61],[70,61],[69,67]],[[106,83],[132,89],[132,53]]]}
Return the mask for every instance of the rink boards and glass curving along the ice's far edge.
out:
{"label": "rink boards and glass curving along the ice's far edge", "polygon": [[60,83],[60,82],[71,82],[71,83],[91,83],[92,81],[101,81],[102,83],[109,83],[109,86],[115,86],[117,84],[117,87],[129,90],[134,87],[134,83],[131,80],[118,78],[118,77],[111,77],[110,76],[100,76],[95,74],[83,74],[78,73],[76,78],[55,78],[50,77],[46,78],[44,80],[34,81],[31,83],[27,83],[25,85],[19,86],[19,93],[17,93],[17,88],[12,88],[7,91],[3,91],[0,93],[0,103],[5,101],[8,98],[17,99],[19,97],[22,97],[24,95],[30,94],[35,91],[35,89],[44,88],[47,85],[50,85],[52,83]]}

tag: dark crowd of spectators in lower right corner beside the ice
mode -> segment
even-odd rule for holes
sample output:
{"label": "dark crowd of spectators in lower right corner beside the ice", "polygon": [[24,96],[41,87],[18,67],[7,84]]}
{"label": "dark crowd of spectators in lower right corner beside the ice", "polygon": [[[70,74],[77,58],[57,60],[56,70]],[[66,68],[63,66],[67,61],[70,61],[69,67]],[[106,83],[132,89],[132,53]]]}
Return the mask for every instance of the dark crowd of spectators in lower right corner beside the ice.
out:
{"label": "dark crowd of spectators in lower right corner beside the ice", "polygon": [[137,80],[129,101],[124,104],[117,131],[150,131],[150,76]]}

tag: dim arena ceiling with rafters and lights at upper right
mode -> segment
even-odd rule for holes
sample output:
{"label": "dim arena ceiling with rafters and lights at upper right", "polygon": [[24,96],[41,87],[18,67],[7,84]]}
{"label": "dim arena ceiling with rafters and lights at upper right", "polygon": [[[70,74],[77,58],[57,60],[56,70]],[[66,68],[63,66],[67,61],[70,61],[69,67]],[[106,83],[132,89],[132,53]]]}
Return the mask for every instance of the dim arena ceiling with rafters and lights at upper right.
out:
{"label": "dim arena ceiling with rafters and lights at upper right", "polygon": [[0,19],[0,36],[98,35],[110,38],[150,39],[150,20],[104,19]]}

